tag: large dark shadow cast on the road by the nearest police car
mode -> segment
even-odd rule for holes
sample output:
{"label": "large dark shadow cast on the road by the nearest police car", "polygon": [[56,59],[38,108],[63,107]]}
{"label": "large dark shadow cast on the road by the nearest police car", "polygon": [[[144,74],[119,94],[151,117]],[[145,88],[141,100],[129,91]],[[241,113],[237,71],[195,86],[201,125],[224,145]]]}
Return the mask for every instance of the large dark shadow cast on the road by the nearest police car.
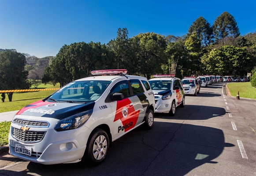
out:
{"label": "large dark shadow cast on the road by the nearest police car", "polygon": [[216,164],[214,159],[223,152],[224,147],[234,145],[225,143],[220,129],[155,121],[151,130],[145,131],[139,127],[114,141],[101,165],[89,167],[82,162],[59,165],[30,162],[26,170],[1,170],[0,174],[183,176],[205,163]]}

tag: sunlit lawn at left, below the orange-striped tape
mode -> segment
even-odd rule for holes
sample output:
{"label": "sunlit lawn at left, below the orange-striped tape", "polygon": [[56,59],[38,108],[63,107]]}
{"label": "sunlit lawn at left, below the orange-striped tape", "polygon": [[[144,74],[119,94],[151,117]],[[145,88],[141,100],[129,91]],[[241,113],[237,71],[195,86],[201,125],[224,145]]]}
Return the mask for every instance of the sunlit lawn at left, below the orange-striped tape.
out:
{"label": "sunlit lawn at left, below the orange-striped tape", "polygon": [[[53,84],[41,84],[38,88],[59,88],[59,84],[53,86]],[[9,102],[7,94],[5,94],[5,102],[0,102],[0,113],[20,110],[22,107],[44,99],[48,95],[51,95],[56,90],[51,91],[37,91],[37,92],[15,92],[12,95],[12,102]],[[1,97],[2,98],[2,97]]]}

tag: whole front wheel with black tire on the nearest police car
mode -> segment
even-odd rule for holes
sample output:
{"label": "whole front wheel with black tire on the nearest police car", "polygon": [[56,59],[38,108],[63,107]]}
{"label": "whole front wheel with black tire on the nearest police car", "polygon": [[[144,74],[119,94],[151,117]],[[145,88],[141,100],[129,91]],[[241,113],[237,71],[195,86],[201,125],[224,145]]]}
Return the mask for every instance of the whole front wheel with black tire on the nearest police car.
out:
{"label": "whole front wheel with black tire on the nearest police car", "polygon": [[[98,147],[93,151],[94,145]],[[108,154],[108,148],[109,138],[107,132],[105,132],[103,129],[96,128],[89,136],[82,161],[88,165],[99,165],[106,158]],[[100,152],[97,150],[100,150]]]}

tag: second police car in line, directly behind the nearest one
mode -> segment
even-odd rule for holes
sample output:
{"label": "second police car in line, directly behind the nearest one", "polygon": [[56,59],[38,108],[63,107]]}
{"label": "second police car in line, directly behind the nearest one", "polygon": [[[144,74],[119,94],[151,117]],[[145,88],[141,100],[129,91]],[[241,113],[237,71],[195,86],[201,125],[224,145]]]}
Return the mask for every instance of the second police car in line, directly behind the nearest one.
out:
{"label": "second police car in line, directly behind the nearest one", "polygon": [[179,78],[174,75],[154,75],[148,82],[155,95],[156,113],[174,116],[177,106],[185,106],[184,88]]}

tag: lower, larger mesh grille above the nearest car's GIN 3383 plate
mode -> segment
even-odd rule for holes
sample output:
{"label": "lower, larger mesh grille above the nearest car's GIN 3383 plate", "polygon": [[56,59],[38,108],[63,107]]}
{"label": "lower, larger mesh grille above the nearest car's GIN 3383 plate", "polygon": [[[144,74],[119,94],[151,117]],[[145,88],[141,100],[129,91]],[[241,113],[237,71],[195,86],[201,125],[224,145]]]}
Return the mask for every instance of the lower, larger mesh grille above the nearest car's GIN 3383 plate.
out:
{"label": "lower, larger mesh grille above the nearest car's GIN 3383 plate", "polygon": [[12,127],[12,135],[23,142],[39,142],[45,136],[45,132],[23,131]]}

